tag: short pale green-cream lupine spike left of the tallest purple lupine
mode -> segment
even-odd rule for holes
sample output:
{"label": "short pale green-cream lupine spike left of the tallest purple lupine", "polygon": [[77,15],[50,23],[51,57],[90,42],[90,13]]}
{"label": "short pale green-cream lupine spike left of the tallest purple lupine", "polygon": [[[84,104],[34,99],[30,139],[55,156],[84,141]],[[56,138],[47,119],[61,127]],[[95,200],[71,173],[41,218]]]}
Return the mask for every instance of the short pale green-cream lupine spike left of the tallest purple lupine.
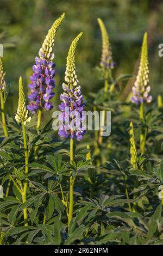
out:
{"label": "short pale green-cream lupine spike left of the tallest purple lupine", "polygon": [[22,83],[22,77],[20,76],[18,81],[18,107],[17,107],[17,114],[15,116],[15,119],[18,123],[24,123],[26,125],[26,121],[30,122],[31,117],[28,118],[28,110],[26,107],[26,98],[24,95],[23,90],[23,83]]}

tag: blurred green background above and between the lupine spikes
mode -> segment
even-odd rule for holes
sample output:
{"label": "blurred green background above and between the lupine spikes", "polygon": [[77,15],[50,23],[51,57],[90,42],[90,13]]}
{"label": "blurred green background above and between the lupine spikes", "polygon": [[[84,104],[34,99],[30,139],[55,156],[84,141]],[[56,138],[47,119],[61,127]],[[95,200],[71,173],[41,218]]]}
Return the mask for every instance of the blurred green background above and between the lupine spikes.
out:
{"label": "blurred green background above and between the lupine spikes", "polygon": [[[152,94],[156,97],[163,93],[163,57],[158,56],[158,45],[163,43],[162,0],[1,0],[0,43],[4,45],[6,81],[11,84],[6,105],[9,114],[16,112],[17,108],[18,77],[23,77],[28,93],[35,56],[48,29],[63,12],[66,18],[57,32],[53,50],[57,74],[54,109],[58,109],[62,92],[68,48],[81,31],[84,34],[78,44],[76,66],[83,94],[97,92],[103,87],[94,69],[101,57],[97,17],[101,17],[109,32],[113,58],[117,63],[115,76],[135,72],[143,33],[148,32]],[[127,82],[126,92],[132,83]],[[48,117],[51,116],[52,111],[48,113]]]}

